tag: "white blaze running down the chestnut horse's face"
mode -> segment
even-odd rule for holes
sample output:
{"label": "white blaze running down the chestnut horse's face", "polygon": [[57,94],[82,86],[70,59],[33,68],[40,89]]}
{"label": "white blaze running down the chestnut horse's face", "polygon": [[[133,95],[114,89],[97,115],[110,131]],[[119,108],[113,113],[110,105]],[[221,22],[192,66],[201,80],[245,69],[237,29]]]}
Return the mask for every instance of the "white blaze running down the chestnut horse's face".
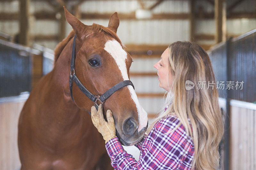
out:
{"label": "white blaze running down the chestnut horse's face", "polygon": [[[124,80],[129,80],[128,74],[127,74],[127,68],[126,68],[126,64],[125,64],[125,60],[127,59],[127,53],[122,48],[121,44],[118,43],[116,40],[108,40],[105,44],[104,50],[106,50],[115,59],[116,64],[117,64],[118,68],[120,69]],[[127,87],[130,90],[132,100],[134,101],[134,103],[136,104],[136,107],[137,107],[137,112],[138,112],[138,116],[139,116],[138,131],[140,132],[140,130],[142,128],[147,126],[148,114],[140,106],[138,97],[137,97],[133,87],[131,85],[129,85]]]}

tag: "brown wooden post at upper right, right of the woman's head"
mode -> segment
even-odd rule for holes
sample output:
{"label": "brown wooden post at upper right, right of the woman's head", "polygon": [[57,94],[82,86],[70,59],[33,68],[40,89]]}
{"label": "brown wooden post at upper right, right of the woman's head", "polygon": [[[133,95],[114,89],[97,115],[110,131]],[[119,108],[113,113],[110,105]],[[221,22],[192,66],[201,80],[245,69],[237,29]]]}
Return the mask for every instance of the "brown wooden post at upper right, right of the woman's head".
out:
{"label": "brown wooden post at upper right, right of the woman's head", "polygon": [[223,0],[215,0],[215,43],[220,43],[222,41],[222,1]]}

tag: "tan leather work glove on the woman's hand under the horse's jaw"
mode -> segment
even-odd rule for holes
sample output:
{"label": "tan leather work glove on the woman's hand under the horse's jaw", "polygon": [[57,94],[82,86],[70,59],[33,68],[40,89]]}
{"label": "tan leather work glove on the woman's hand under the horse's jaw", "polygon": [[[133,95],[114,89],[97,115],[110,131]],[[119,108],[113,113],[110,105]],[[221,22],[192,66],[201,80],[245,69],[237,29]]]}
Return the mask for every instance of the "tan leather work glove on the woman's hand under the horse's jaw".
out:
{"label": "tan leather work glove on the woman's hand under the horse's jaw", "polygon": [[105,121],[102,110],[102,104],[99,105],[98,111],[95,106],[92,106],[91,117],[93,125],[101,133],[103,139],[106,141],[105,143],[107,143],[110,139],[117,137],[116,127],[111,110],[108,109],[107,111],[108,122]]}

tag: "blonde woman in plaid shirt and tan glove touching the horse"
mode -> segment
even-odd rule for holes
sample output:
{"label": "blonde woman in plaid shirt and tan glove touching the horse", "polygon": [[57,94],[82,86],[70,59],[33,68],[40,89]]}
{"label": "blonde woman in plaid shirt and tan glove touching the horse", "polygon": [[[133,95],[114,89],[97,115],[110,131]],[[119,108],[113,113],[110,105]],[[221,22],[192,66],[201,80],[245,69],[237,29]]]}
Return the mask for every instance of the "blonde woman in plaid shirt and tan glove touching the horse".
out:
{"label": "blonde woman in plaid shirt and tan glove touching the horse", "polygon": [[218,168],[224,124],[209,56],[198,44],[179,41],[169,45],[154,67],[159,87],[168,93],[162,111],[135,145],[138,162],[119,143],[112,112],[107,111],[106,122],[102,105],[98,112],[92,106],[92,122],[106,141],[111,165],[129,170]]}

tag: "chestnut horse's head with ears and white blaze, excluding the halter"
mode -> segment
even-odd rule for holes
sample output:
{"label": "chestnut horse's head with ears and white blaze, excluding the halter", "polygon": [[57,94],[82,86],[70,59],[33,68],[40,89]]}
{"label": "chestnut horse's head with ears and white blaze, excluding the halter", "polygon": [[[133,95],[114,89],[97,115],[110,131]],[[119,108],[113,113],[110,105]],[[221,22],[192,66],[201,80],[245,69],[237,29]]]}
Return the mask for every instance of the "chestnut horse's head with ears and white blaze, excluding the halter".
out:
{"label": "chestnut horse's head with ears and white blaze, excluding the halter", "polygon": [[[117,83],[130,80],[132,57],[116,35],[119,26],[117,13],[111,15],[108,27],[104,27],[95,23],[84,25],[65,7],[64,10],[77,36],[75,72],[86,89],[101,96]],[[93,102],[76,85],[73,85],[72,93],[76,105],[90,111]],[[131,85],[117,90],[105,101],[105,120],[108,109],[113,113],[116,134],[123,145],[133,145],[143,137],[148,126],[148,115]]]}

